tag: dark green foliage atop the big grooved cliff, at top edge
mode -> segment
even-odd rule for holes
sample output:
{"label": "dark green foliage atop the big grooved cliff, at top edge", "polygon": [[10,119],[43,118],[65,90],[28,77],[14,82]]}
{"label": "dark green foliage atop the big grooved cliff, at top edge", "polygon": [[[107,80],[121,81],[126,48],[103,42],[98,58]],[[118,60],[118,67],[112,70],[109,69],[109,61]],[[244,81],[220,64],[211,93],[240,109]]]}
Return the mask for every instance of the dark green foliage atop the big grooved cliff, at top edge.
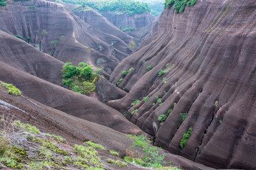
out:
{"label": "dark green foliage atop the big grooved cliff, at top edge", "polygon": [[197,0],[166,0],[164,8],[171,8],[174,5],[176,13],[181,13],[186,6],[193,6],[196,2]]}

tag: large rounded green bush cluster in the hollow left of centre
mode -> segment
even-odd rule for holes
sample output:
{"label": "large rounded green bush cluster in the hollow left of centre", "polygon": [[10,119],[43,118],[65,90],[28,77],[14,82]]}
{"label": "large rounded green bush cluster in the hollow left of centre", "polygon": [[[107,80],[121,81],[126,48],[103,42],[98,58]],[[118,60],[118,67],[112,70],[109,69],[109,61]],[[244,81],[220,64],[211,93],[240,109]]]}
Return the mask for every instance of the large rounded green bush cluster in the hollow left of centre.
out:
{"label": "large rounded green bush cluster in the hollow left of centre", "polygon": [[80,62],[76,67],[71,62],[67,62],[61,72],[63,84],[68,86],[68,89],[85,95],[90,95],[95,91],[95,81],[98,76],[90,65]]}

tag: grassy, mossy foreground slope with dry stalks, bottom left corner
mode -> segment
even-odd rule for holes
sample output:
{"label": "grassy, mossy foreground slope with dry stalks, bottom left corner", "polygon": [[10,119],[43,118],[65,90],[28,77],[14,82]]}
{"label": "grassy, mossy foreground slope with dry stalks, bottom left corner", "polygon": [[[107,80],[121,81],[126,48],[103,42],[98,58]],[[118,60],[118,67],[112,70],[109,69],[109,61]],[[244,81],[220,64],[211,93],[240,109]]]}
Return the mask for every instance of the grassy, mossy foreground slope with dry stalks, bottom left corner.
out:
{"label": "grassy, mossy foreground slope with dry stalks, bottom left corner", "polygon": [[93,147],[69,145],[62,137],[40,132],[16,120],[0,120],[0,166],[14,169],[104,169]]}

